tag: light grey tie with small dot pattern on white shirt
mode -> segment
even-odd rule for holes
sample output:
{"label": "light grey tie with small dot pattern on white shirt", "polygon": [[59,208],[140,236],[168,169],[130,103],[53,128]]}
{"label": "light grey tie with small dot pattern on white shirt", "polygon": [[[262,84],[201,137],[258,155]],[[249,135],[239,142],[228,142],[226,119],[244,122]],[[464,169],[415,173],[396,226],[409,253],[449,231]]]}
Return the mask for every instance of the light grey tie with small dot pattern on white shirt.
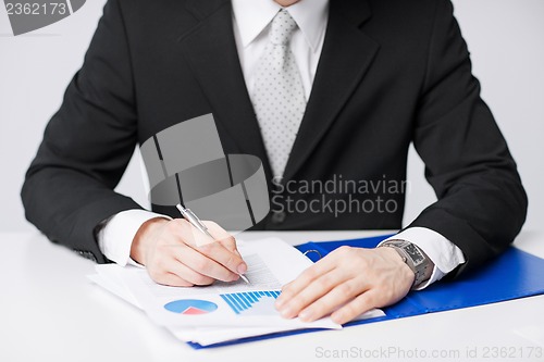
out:
{"label": "light grey tie with small dot pattern on white shirt", "polygon": [[272,21],[251,97],[274,177],[282,177],[306,110],[300,72],[289,49],[297,23],[286,10]]}

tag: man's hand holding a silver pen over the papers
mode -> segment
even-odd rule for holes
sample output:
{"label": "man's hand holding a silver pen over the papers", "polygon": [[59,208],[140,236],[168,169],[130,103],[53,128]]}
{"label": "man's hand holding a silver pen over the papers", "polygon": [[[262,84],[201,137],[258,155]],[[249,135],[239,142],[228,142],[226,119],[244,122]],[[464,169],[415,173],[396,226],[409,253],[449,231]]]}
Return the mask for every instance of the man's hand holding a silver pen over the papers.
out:
{"label": "man's hand holding a silver pen over the papers", "polygon": [[236,241],[218,224],[203,222],[214,240],[187,221],[152,219],[134,237],[131,258],[159,284],[190,287],[234,282],[247,270]]}

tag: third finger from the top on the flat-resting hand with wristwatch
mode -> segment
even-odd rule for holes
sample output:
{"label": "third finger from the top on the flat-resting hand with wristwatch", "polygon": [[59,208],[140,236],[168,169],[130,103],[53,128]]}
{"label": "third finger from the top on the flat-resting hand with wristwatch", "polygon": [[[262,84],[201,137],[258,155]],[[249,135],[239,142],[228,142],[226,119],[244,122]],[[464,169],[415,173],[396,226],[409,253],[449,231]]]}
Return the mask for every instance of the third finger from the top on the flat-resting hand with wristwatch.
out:
{"label": "third finger from the top on the flat-resting hand with wristwatch", "polygon": [[361,292],[369,290],[369,286],[360,285],[355,279],[348,279],[336,285],[326,295],[316,300],[309,307],[304,309],[298,316],[304,322],[317,321],[325,315],[331,314],[338,307],[359,296]]}

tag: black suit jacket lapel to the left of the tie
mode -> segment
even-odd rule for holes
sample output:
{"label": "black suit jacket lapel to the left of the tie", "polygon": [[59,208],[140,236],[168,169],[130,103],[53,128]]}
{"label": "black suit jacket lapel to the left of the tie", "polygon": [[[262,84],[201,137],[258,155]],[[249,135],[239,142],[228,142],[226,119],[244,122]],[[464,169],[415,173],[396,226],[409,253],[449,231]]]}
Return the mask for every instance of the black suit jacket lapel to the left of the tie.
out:
{"label": "black suit jacket lapel to the left of the tie", "polygon": [[234,39],[231,1],[194,0],[187,9],[200,23],[181,36],[180,43],[211,104],[218,127],[235,141],[237,152],[261,159],[270,180],[272,172]]}

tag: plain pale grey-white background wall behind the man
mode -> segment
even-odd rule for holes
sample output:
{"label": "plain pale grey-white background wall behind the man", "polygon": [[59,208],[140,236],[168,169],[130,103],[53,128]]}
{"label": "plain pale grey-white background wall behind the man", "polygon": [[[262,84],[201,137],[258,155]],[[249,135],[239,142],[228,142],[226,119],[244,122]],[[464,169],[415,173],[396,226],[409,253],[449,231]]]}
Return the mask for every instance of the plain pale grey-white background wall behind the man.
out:
{"label": "plain pale grey-white background wall behind the man", "polygon": [[[152,0],[150,0],[152,1]],[[311,0],[306,0],[311,1]],[[20,190],[44,128],[83,62],[104,0],[89,0],[72,16],[28,35],[11,34],[0,7],[0,230],[24,232]],[[544,1],[454,0],[472,54],[473,72],[510,147],[529,194],[524,229],[544,225]],[[133,160],[134,161],[134,160]],[[435,197],[411,151],[408,223]],[[146,204],[138,162],[119,191]]]}

